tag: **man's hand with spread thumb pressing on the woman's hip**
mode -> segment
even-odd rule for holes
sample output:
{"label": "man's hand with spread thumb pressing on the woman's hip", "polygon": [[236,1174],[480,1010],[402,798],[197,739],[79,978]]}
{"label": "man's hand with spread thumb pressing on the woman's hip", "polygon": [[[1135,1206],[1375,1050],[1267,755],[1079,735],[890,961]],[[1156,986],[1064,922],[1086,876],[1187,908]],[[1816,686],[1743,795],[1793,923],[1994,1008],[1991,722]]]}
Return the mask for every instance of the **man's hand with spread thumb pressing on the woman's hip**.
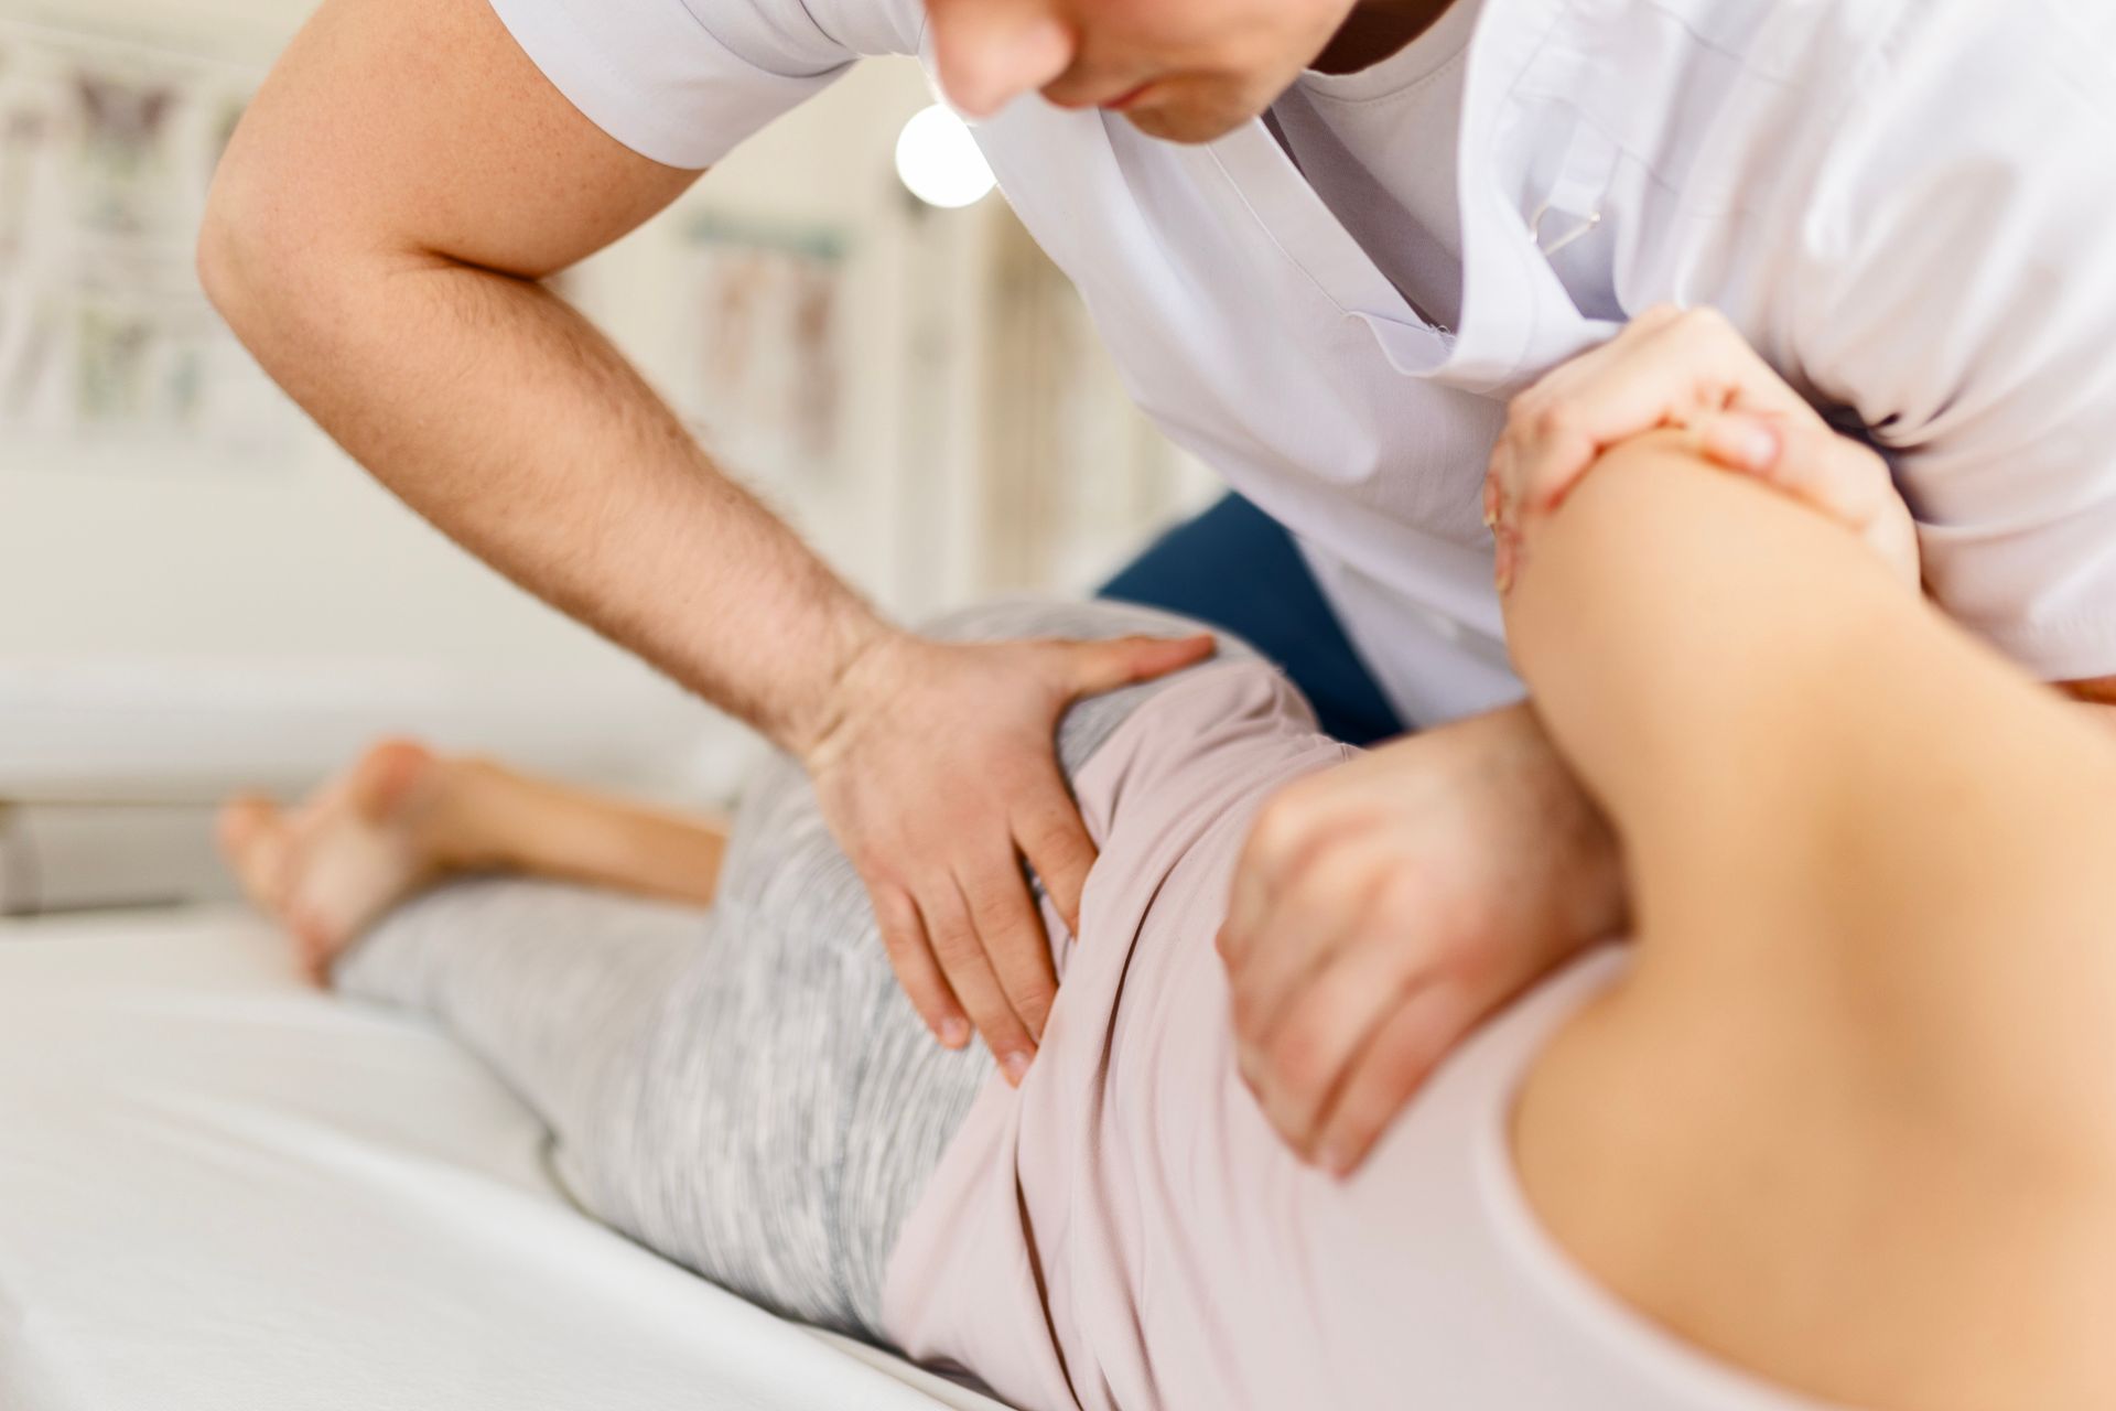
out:
{"label": "man's hand with spread thumb pressing on the woman's hip", "polygon": [[897,982],[942,1043],[961,1047],[975,1024],[1018,1083],[1043,1037],[1058,979],[1022,861],[1073,929],[1094,863],[1056,759],[1066,704],[1210,654],[1210,637],[889,635],[846,668],[798,753],[868,884]]}

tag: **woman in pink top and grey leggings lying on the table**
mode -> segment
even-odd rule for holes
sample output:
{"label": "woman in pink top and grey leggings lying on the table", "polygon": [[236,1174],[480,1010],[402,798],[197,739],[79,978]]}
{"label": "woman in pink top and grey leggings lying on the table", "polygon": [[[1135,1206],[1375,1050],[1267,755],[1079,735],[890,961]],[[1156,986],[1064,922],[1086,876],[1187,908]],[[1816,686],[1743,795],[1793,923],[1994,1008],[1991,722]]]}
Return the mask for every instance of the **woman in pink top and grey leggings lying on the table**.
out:
{"label": "woman in pink top and grey leggings lying on the table", "polygon": [[1735,474],[1731,429],[1494,461],[1507,630],[1636,939],[1344,1178],[1240,1081],[1215,935],[1259,804],[1354,751],[1240,643],[1064,719],[1100,861],[1018,1087],[927,1039],[791,764],[722,831],[385,745],[224,838],[597,1216],[1028,1411],[2116,1405],[2116,740],[1921,601],[1879,459],[1786,415]]}

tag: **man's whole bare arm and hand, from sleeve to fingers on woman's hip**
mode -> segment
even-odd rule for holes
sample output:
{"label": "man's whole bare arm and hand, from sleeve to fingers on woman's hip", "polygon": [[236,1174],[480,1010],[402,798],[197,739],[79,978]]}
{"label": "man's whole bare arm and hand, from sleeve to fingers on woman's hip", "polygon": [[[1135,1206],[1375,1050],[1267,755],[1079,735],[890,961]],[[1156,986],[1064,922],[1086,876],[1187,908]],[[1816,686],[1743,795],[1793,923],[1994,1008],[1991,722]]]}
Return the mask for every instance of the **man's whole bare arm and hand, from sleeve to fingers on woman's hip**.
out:
{"label": "man's whole bare arm and hand, from sleeve to fingers on woman's hip", "polygon": [[1020,863],[1071,920],[1094,859],[1058,715],[1210,643],[882,622],[535,283],[692,180],[573,110],[487,0],[324,0],[229,146],[199,269],[389,489],[800,755],[918,1013],[1018,1077],[1056,996]]}

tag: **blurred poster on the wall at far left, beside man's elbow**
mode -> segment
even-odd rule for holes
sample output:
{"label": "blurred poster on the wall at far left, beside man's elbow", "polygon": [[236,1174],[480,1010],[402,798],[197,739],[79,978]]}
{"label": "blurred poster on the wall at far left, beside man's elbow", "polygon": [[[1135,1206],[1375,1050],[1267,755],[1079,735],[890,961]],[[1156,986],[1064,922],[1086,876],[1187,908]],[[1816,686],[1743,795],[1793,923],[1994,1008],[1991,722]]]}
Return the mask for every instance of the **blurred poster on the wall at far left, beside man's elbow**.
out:
{"label": "blurred poster on the wall at far left, beside man's elbow", "polygon": [[193,248],[256,74],[0,19],[0,468],[135,448],[269,457],[300,425],[205,300]]}

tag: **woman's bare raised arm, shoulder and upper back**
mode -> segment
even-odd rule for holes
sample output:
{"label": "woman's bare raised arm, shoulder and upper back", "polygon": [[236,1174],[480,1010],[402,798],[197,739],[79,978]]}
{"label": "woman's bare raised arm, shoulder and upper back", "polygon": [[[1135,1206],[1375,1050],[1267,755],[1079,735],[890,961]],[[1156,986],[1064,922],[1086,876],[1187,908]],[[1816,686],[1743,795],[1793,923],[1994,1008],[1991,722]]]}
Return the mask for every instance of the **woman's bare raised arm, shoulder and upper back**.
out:
{"label": "woman's bare raised arm, shoulder and upper back", "polygon": [[1528,533],[1515,654],[1640,927],[1524,1089],[1530,1199],[1788,1386],[2116,1405],[2116,749],[1672,436]]}

